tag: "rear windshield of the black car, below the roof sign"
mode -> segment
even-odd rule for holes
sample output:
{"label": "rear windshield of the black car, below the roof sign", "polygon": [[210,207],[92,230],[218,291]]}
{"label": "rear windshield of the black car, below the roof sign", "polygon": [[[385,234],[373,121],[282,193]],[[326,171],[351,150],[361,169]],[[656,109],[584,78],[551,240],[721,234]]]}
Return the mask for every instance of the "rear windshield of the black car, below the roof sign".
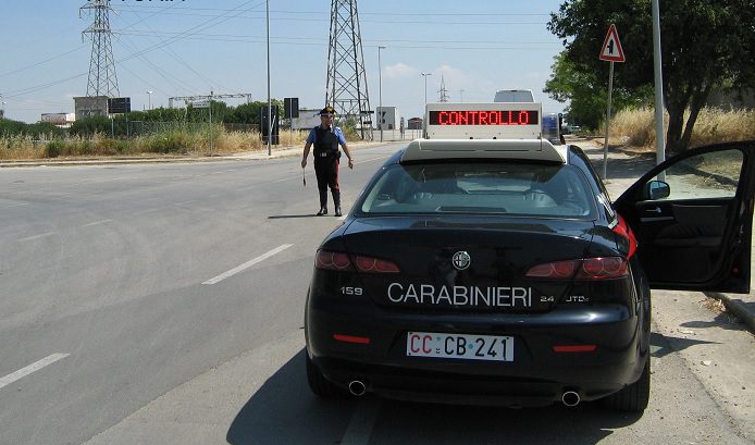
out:
{"label": "rear windshield of the black car, below the roof sign", "polygon": [[361,214],[507,214],[594,219],[574,166],[539,163],[395,164],[366,190]]}

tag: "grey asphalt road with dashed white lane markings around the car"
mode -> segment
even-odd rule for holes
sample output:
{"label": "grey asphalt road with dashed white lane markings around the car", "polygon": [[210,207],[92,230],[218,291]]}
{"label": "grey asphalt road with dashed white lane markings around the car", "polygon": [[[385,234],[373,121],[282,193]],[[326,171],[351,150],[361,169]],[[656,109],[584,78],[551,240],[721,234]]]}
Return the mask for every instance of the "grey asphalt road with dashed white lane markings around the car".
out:
{"label": "grey asphalt road with dashed white lane markings around the car", "polygon": [[[345,210],[396,148],[342,169]],[[307,182],[298,158],[0,171],[0,444],[753,441],[752,336],[695,312],[700,294],[661,301],[642,417],[318,400],[304,299],[339,221],[311,218],[311,158]],[[686,338],[689,322],[728,339]],[[726,342],[743,354],[711,346],[717,369],[694,366],[693,349]],[[744,383],[720,386],[728,369]]]}

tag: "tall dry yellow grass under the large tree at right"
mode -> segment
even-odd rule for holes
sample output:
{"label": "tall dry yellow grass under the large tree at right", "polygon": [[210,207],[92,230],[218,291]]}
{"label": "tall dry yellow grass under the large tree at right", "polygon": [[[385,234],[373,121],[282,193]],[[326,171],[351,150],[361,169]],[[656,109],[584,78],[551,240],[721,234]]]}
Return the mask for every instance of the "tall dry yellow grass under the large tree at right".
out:
{"label": "tall dry yellow grass under the large tree at right", "polygon": [[[655,147],[654,113],[652,108],[619,111],[611,119],[611,137],[623,145],[653,150]],[[665,113],[665,123],[668,127],[667,113]],[[704,108],[695,121],[691,146],[745,139],[755,139],[755,110],[725,111]]]}

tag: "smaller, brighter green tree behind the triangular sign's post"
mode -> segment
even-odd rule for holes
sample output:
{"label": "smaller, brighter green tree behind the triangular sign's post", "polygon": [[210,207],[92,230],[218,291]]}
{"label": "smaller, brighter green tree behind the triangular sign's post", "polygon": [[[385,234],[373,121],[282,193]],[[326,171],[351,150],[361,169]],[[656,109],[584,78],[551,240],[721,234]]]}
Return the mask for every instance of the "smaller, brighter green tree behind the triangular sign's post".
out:
{"label": "smaller, brighter green tree behind the triangular sign's post", "polygon": [[[606,115],[608,100],[605,79],[598,79],[594,71],[578,69],[569,60],[566,51],[554,59],[553,74],[545,83],[543,91],[559,102],[570,100],[569,107],[565,110],[569,115],[569,122],[586,128],[598,128]],[[611,108],[621,110],[626,107],[651,104],[652,99],[653,91],[647,87],[615,88]]]}

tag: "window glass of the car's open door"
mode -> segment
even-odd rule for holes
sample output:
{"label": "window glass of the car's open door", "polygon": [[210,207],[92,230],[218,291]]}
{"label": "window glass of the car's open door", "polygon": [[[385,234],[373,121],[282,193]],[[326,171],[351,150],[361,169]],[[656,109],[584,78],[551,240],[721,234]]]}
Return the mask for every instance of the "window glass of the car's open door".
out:
{"label": "window glass of the car's open door", "polygon": [[[742,152],[725,150],[684,159],[659,176],[670,186],[665,200],[733,198],[742,171]],[[665,176],[665,177],[664,177]]]}

